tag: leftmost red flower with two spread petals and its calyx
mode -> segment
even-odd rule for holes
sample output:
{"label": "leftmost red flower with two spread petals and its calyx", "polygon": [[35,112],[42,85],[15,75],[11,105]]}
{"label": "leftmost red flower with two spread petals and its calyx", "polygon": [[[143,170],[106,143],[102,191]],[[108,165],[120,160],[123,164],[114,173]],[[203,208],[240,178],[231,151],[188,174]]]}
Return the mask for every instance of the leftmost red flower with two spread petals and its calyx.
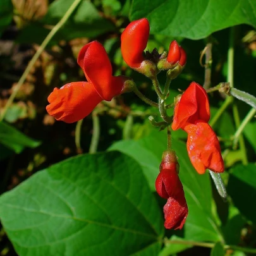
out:
{"label": "leftmost red flower with two spread petals and its calyx", "polygon": [[101,101],[128,92],[132,80],[126,76],[113,76],[112,66],[102,44],[90,42],[78,54],[78,64],[87,82],[71,82],[49,95],[47,112],[57,120],[73,123],[85,118]]}

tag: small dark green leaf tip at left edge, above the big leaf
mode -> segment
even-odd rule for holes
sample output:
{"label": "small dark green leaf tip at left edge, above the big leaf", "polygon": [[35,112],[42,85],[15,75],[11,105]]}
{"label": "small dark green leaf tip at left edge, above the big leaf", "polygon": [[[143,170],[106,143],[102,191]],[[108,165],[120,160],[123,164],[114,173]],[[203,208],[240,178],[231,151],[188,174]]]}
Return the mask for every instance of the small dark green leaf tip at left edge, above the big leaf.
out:
{"label": "small dark green leaf tip at left edge, above the big leaf", "polygon": [[7,123],[0,122],[0,143],[19,154],[25,147],[37,147],[40,142],[32,140]]}

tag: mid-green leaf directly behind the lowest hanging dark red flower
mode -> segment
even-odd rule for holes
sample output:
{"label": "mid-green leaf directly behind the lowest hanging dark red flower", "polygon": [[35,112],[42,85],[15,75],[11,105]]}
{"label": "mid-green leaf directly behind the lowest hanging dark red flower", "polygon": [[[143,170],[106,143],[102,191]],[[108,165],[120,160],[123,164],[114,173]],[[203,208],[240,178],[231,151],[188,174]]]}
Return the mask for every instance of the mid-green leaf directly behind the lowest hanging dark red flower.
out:
{"label": "mid-green leaf directly behind the lowest hanging dark red flower", "polygon": [[[136,159],[142,166],[150,188],[154,189],[155,178],[159,173],[161,155],[166,150],[166,133],[152,133],[137,142],[124,140],[114,143],[110,150],[119,150]],[[192,167],[186,152],[186,145],[173,138],[173,149],[179,158],[180,179],[188,203],[188,218],[185,224],[185,238],[188,240],[218,241],[222,239],[212,217],[212,193],[209,174],[199,175]]]}

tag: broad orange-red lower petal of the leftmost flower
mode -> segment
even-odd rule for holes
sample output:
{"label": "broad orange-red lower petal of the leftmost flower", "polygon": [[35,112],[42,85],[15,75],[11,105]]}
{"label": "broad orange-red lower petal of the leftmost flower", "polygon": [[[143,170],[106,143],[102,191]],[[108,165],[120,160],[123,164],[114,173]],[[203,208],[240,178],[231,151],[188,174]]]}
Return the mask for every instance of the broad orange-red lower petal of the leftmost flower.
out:
{"label": "broad orange-red lower petal of the leftmost flower", "polygon": [[73,123],[85,118],[102,101],[92,83],[68,83],[60,89],[54,88],[48,97],[47,112],[57,120]]}

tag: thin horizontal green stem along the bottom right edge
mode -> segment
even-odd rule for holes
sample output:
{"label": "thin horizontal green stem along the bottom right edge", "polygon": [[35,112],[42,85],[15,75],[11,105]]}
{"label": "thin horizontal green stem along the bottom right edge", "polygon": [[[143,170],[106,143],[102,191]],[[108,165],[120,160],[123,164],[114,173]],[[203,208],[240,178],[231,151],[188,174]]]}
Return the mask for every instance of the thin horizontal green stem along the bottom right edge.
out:
{"label": "thin horizontal green stem along the bottom right edge", "polygon": [[[182,241],[182,240],[165,240],[165,243],[174,244],[174,245],[192,245],[197,247],[207,247],[213,248],[215,243],[204,243],[204,242],[197,242],[197,241]],[[236,245],[224,245],[225,250],[238,250],[241,252],[253,253],[256,254],[256,249],[254,248],[245,248],[245,247],[238,247]]]}

